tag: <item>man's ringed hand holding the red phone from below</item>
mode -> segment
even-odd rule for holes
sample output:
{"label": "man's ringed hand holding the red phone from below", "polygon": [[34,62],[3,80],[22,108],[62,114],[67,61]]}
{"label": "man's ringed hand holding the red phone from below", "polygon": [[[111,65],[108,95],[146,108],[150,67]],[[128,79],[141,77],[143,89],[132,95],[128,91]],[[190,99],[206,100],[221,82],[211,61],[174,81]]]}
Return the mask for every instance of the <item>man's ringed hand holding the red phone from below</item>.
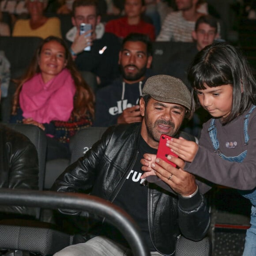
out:
{"label": "man's ringed hand holding the red phone from below", "polygon": [[[182,159],[173,156],[171,156],[171,158],[177,166],[184,166]],[[166,182],[173,191],[181,196],[190,196],[196,191],[197,185],[195,176],[181,168],[177,169],[164,160],[156,158],[155,163],[151,164],[151,169],[162,181]]]}

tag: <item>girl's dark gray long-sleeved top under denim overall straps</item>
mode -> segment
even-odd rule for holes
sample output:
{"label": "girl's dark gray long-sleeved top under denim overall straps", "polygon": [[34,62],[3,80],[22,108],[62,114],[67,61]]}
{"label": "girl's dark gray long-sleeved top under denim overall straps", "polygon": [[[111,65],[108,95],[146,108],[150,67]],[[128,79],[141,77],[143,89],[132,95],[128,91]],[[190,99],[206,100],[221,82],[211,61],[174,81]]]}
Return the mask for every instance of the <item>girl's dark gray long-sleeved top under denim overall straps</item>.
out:
{"label": "girl's dark gray long-sleeved top under denim overall straps", "polygon": [[[249,108],[250,109],[250,108]],[[243,162],[229,162],[214,152],[208,127],[210,121],[203,124],[199,140],[199,150],[192,163],[186,163],[184,170],[203,177],[216,184],[249,190],[256,187],[256,110],[253,110],[248,122],[248,145],[245,145],[244,117],[249,109],[230,123],[222,125],[215,120],[219,149],[226,156],[237,156],[247,150]],[[231,143],[232,142],[232,143]]]}

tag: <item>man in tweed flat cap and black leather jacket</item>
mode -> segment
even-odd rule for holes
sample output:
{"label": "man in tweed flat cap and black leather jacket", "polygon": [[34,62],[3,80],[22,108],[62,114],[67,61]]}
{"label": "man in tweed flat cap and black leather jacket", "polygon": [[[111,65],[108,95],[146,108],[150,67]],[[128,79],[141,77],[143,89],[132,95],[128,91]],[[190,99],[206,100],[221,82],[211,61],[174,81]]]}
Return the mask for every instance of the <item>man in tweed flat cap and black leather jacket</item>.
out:
{"label": "man in tweed flat cap and black leather jacket", "polygon": [[[108,128],[102,139],[57,178],[53,189],[87,191],[113,202],[138,224],[151,255],[173,255],[181,234],[194,241],[206,235],[210,216],[204,196],[192,174],[158,158],[156,169],[162,173],[162,183],[170,189],[141,179],[144,172],[140,161],[145,153],[156,154],[161,134],[181,135],[182,121],[193,114],[192,98],[180,79],[168,75],[147,79],[142,93],[142,122]],[[176,160],[182,166],[183,161]],[[170,173],[175,175],[170,177]],[[59,211],[90,217],[84,212]],[[56,256],[129,255],[124,237],[109,223],[95,224],[88,218],[87,226],[80,224],[80,228],[83,243],[80,239],[80,244],[68,246]]]}

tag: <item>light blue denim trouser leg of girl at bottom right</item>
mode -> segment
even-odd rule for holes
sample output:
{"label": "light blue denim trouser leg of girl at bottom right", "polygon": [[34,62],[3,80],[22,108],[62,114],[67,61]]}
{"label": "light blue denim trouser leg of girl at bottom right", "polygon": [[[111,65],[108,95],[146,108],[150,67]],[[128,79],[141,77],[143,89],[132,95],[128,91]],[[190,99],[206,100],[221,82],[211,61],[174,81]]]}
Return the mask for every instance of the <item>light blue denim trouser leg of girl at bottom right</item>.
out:
{"label": "light blue denim trouser leg of girl at bottom right", "polygon": [[252,206],[251,227],[246,231],[243,256],[256,255],[256,207]]}

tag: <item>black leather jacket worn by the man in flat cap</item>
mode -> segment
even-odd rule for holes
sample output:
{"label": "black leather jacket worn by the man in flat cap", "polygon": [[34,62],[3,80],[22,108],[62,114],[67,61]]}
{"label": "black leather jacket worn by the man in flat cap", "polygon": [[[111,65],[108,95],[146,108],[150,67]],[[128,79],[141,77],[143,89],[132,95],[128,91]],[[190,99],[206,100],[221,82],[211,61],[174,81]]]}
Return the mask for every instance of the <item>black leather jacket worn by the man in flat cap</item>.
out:
{"label": "black leather jacket worn by the man in flat cap", "polygon": [[[102,139],[58,177],[53,189],[86,191],[112,202],[136,161],[140,130],[139,123],[108,128]],[[174,253],[180,233],[196,241],[202,239],[209,228],[209,211],[199,192],[184,199],[148,184],[148,210],[151,241],[163,255]],[[86,215],[77,211],[62,212]]]}

